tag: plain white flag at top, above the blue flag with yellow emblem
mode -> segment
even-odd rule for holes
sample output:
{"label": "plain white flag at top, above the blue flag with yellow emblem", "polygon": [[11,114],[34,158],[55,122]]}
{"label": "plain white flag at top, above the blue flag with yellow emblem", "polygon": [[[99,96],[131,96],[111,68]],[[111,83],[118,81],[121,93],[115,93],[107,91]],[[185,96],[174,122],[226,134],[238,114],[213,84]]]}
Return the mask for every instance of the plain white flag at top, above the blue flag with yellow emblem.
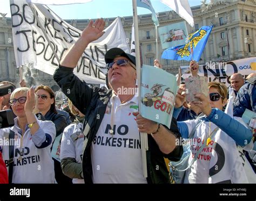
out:
{"label": "plain white flag at top, above the blue flag with yellow emblem", "polygon": [[190,26],[194,26],[194,18],[187,0],[160,0],[165,5],[178,13],[180,17],[185,19]]}

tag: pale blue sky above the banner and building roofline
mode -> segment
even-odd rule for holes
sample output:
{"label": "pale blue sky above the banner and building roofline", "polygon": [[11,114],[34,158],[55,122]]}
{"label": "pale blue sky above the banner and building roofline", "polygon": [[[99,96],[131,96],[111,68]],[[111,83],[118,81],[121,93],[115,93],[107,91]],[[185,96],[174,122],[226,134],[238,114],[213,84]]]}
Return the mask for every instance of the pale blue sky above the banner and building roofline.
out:
{"label": "pale blue sky above the banner and building roofline", "polygon": [[[190,6],[201,4],[200,0],[188,0],[188,2]],[[171,10],[168,6],[161,3],[160,0],[151,0],[151,3],[156,12]],[[0,4],[0,13],[8,13],[6,17],[11,17],[9,0],[1,0]],[[62,19],[96,19],[132,16],[132,0],[93,0],[84,4],[50,5],[49,7]],[[151,13],[144,8],[138,8],[137,12],[138,15]]]}

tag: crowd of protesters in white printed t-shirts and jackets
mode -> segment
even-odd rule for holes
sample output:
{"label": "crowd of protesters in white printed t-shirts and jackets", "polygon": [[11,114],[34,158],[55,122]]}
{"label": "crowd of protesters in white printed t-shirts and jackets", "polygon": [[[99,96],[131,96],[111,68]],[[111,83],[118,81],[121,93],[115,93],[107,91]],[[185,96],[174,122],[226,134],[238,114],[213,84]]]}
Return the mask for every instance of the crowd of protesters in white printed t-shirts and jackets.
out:
{"label": "crowd of protesters in white printed t-shirts and jackets", "polygon": [[[0,138],[21,142],[11,148],[1,146],[0,183],[170,183],[164,157],[179,161],[183,146],[177,145],[176,140],[188,138],[194,128],[193,139],[197,143],[191,146],[190,162],[197,155],[194,148],[203,146],[203,140],[207,140],[209,150],[216,148],[211,133],[219,129],[234,146],[243,149],[255,171],[255,130],[241,116],[246,109],[256,112],[256,74],[245,80],[238,73],[231,76],[236,96],[234,118],[224,112],[229,98],[226,85],[210,82],[208,96],[196,94],[199,100],[188,103],[186,85],[178,83],[169,128],[142,117],[133,107],[139,104],[138,97],[117,93],[120,87],[136,88],[136,58],[122,49],[111,48],[105,54],[109,89],[89,87],[73,74],[87,45],[104,34],[104,26],[103,19],[90,21],[53,75],[69,98],[68,105],[56,103],[55,93],[45,85],[34,89],[26,88],[24,81],[20,88],[10,82],[0,83],[0,87],[10,87],[8,94],[0,97],[1,110],[11,109],[15,117],[14,126],[0,129]],[[155,66],[161,67],[157,60]],[[197,62],[191,61],[190,70],[191,76],[198,77]],[[125,116],[126,113],[132,115]],[[119,127],[127,128],[125,136]],[[147,178],[143,176],[140,147],[136,146],[139,132],[149,134]],[[208,178],[211,152],[198,155],[186,171],[185,183],[214,183]],[[224,154],[231,153],[224,150]],[[230,162],[228,167],[232,165]],[[225,181],[235,182],[232,176]]]}

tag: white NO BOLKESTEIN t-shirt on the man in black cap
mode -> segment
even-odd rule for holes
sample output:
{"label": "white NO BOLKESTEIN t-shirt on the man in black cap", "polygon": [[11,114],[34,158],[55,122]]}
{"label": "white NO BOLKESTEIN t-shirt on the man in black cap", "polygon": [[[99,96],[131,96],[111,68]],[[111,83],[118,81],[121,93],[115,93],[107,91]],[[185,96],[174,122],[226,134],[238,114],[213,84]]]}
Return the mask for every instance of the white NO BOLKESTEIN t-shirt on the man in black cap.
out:
{"label": "white NO BOLKESTEIN t-shirt on the man in black cap", "polygon": [[[113,135],[109,132],[112,102]],[[147,183],[143,176],[140,135],[132,114],[137,111],[138,97],[124,104],[119,97],[111,97],[91,146],[93,183]]]}

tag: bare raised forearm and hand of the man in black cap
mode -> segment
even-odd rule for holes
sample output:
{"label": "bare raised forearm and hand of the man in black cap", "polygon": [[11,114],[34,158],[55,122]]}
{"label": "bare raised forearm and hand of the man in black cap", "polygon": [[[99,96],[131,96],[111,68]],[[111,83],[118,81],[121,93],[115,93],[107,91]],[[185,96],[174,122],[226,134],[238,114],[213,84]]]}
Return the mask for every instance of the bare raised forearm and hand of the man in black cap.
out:
{"label": "bare raised forearm and hand of the man in black cap", "polygon": [[82,32],[81,37],[69,49],[68,53],[64,56],[64,59],[60,61],[60,66],[75,68],[87,45],[102,37],[104,34],[104,26],[104,19],[97,19],[95,23],[90,20],[90,23]]}

